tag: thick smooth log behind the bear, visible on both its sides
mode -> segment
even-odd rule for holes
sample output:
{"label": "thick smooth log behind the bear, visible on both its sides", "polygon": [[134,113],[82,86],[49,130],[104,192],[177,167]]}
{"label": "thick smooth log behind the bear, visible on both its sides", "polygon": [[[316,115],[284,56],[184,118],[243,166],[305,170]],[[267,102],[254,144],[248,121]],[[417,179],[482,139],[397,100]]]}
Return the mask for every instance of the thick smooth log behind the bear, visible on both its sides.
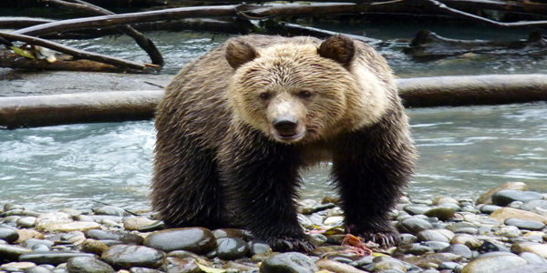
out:
{"label": "thick smooth log behind the bear, visible on both its sides", "polygon": [[[397,84],[406,107],[547,101],[546,75],[435,76]],[[161,96],[158,90],[0,97],[0,127],[148,119]]]}

